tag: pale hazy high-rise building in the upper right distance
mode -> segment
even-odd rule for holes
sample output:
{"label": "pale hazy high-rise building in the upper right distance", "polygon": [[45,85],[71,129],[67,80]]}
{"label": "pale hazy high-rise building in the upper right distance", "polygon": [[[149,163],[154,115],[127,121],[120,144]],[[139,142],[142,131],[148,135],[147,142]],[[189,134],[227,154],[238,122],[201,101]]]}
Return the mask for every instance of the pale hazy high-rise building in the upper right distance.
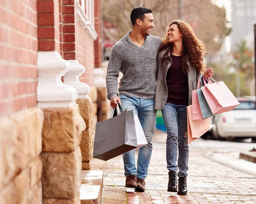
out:
{"label": "pale hazy high-rise building in the upper right distance", "polygon": [[[231,0],[231,49],[241,40],[253,42],[253,23],[256,23],[256,0]],[[252,39],[248,39],[252,38]]]}

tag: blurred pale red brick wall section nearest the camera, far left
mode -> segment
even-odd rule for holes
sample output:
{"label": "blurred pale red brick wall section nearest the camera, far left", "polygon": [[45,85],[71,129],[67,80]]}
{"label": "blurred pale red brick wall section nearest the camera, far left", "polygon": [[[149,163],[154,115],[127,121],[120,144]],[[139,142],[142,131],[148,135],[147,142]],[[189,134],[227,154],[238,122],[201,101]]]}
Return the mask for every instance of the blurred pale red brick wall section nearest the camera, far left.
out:
{"label": "blurred pale red brick wall section nearest the camera, far left", "polygon": [[36,106],[37,1],[0,1],[0,116]]}

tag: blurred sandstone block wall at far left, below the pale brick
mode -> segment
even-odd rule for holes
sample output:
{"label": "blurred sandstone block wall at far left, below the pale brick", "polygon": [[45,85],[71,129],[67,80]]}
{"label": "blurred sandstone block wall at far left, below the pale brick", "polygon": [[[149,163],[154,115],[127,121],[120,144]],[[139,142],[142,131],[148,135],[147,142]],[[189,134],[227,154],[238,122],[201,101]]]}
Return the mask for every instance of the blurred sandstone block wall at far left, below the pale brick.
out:
{"label": "blurred sandstone block wall at far left, below the pale brick", "polygon": [[37,107],[0,120],[1,204],[42,204],[43,121]]}

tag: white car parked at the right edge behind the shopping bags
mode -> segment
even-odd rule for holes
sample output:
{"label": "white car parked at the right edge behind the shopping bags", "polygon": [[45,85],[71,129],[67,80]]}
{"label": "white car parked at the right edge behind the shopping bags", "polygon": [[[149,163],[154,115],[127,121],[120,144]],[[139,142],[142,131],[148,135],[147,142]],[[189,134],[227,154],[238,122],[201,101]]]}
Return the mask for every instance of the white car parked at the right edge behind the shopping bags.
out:
{"label": "white car parked at the right edge behind the shopping bags", "polygon": [[240,105],[229,112],[215,115],[212,123],[212,136],[221,140],[224,138],[256,139],[256,109],[252,97],[237,98]]}

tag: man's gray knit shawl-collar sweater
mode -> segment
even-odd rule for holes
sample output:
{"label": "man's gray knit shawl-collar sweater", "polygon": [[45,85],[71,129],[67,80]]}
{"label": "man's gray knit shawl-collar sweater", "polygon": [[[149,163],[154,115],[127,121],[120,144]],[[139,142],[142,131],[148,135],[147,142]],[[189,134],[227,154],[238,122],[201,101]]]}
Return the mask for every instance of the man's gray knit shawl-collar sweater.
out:
{"label": "man's gray knit shawl-collar sweater", "polygon": [[[112,48],[108,62],[106,83],[108,99],[119,94],[136,98],[154,100],[157,77],[157,49],[161,39],[146,36],[142,47],[135,45],[129,34],[119,40]],[[117,78],[122,72],[121,86],[117,90]]]}

